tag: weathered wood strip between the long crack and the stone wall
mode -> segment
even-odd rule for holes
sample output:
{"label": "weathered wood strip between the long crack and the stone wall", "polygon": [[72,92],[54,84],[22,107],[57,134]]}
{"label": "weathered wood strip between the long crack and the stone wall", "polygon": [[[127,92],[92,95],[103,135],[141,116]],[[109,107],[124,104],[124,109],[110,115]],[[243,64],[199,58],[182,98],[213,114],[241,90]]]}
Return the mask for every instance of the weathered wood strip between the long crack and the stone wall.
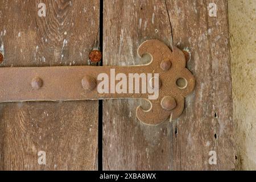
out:
{"label": "weathered wood strip between the long crack and the stone wall", "polygon": [[[209,16],[215,3],[217,16]],[[193,95],[174,127],[174,169],[235,168],[227,1],[168,1],[174,44],[189,47],[196,76]],[[210,165],[210,151],[217,164]]]}

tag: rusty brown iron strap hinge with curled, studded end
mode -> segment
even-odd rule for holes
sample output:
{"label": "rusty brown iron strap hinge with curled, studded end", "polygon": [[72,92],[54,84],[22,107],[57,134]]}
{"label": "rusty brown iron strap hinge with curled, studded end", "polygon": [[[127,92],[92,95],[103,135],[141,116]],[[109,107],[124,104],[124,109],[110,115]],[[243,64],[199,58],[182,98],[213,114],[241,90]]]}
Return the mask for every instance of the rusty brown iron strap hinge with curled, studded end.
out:
{"label": "rusty brown iron strap hinge with curled, studded end", "polygon": [[[156,125],[170,117],[176,119],[183,112],[184,98],[195,87],[195,77],[186,68],[184,53],[175,46],[171,51],[159,40],[147,40],[138,49],[139,56],[146,53],[152,57],[150,64],[129,67],[0,68],[0,102],[144,98],[151,102],[151,108],[145,111],[137,107],[140,121]],[[141,80],[139,86],[136,76]],[[143,85],[147,85],[146,92]],[[149,98],[153,93],[149,93],[150,88],[158,90],[157,97]]]}

